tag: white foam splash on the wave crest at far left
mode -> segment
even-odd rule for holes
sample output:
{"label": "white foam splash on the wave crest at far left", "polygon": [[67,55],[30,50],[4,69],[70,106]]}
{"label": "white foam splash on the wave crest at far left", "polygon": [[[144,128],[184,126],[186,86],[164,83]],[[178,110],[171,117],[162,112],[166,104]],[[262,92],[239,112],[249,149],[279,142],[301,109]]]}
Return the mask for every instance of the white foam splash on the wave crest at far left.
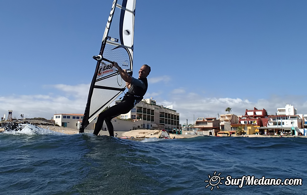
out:
{"label": "white foam splash on the wave crest at far left", "polygon": [[60,133],[56,131],[51,131],[41,127],[37,127],[30,124],[20,124],[18,126],[18,131],[4,131],[4,134],[13,134],[13,135],[67,135],[65,133]]}

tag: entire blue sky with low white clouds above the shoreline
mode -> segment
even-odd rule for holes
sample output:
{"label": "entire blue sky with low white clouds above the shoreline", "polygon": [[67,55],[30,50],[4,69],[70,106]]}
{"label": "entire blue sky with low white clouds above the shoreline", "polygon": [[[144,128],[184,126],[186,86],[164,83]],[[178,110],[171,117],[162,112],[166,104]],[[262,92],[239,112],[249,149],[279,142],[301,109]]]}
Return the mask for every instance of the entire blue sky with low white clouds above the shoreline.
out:
{"label": "entire blue sky with low white clouds above the shoreline", "polygon": [[[113,0],[0,1],[0,115],[83,114]],[[307,1],[137,0],[134,77],[180,123],[291,104],[307,114]]]}

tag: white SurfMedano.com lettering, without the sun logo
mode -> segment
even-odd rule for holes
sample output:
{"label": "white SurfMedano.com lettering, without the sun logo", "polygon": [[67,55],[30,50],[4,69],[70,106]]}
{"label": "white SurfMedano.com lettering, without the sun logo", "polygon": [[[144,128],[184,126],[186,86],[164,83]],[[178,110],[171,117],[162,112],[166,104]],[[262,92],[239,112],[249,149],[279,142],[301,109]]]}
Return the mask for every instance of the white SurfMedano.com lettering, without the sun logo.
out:
{"label": "white SurfMedano.com lettering, without the sun logo", "polygon": [[242,188],[243,185],[245,186],[301,186],[303,180],[301,178],[286,178],[282,180],[281,178],[255,178],[254,175],[245,176],[243,175],[242,178],[232,178],[230,175],[226,177],[225,185],[226,186],[238,186]]}

